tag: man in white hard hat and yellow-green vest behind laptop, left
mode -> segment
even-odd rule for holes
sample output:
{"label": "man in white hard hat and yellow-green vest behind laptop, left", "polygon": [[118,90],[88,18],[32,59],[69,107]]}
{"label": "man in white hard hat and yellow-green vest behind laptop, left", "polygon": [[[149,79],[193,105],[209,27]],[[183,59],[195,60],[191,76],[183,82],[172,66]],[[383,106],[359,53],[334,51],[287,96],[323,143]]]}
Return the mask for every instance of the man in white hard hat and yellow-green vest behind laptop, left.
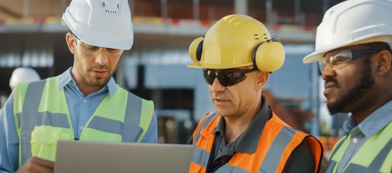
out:
{"label": "man in white hard hat and yellow-green vest behind laptop, left", "polygon": [[0,114],[1,173],[53,173],[58,140],[157,143],[152,101],[112,77],[133,44],[128,0],[72,0],[62,22],[73,67],[11,93]]}

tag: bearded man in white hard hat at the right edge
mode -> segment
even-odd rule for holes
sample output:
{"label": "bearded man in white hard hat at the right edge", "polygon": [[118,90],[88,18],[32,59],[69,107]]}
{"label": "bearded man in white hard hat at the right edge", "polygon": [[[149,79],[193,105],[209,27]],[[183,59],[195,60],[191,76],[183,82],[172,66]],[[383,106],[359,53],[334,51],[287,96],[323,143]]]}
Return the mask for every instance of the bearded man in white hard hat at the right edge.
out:
{"label": "bearded man in white hard hat at the right edge", "polygon": [[327,173],[392,172],[392,1],[347,0],[328,9],[316,34],[331,115],[351,113]]}

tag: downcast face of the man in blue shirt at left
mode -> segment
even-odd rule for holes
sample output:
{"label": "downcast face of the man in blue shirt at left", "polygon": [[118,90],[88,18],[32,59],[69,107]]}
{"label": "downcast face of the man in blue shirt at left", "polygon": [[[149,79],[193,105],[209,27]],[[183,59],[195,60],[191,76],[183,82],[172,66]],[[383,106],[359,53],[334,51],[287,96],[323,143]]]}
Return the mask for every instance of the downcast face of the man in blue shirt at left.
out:
{"label": "downcast face of the man in blue shirt at left", "polygon": [[87,45],[73,37],[75,39],[73,68],[77,72],[74,78],[81,78],[87,86],[104,86],[116,71],[122,51],[107,54],[113,50]]}

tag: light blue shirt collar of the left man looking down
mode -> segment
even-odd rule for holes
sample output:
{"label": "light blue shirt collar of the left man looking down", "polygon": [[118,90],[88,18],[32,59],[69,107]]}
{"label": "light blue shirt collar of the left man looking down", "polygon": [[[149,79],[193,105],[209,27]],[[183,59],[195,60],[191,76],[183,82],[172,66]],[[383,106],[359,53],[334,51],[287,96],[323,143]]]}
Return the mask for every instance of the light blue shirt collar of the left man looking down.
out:
{"label": "light blue shirt collar of the left man looking down", "polygon": [[[67,85],[74,85],[75,87],[77,87],[76,82],[71,75],[71,70],[72,70],[72,67],[68,68],[65,72],[63,72],[63,74],[60,75],[60,77],[59,77],[59,90],[61,90],[62,88],[64,88]],[[109,98],[110,98],[114,94],[114,92],[116,92],[116,89],[117,89],[117,85],[116,85],[116,82],[114,81],[113,76],[111,76],[109,78],[109,80],[107,81],[104,88],[106,88],[106,87],[108,89]],[[102,89],[104,89],[104,88],[102,88]]]}

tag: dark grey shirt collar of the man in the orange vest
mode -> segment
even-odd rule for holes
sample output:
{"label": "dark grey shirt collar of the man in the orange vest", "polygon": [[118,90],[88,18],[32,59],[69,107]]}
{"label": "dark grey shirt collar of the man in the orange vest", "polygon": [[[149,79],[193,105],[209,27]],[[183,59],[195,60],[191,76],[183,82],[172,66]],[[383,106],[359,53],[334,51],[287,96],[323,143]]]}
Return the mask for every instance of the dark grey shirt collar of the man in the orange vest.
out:
{"label": "dark grey shirt collar of the man in the orange vest", "polygon": [[[262,105],[260,110],[250,122],[249,127],[242,133],[235,144],[235,151],[242,153],[254,153],[257,149],[261,133],[263,132],[264,125],[270,118],[271,110],[268,107],[268,101],[264,96],[261,96]],[[216,125],[213,134],[216,132],[224,133],[225,121],[221,116],[218,124]]]}

